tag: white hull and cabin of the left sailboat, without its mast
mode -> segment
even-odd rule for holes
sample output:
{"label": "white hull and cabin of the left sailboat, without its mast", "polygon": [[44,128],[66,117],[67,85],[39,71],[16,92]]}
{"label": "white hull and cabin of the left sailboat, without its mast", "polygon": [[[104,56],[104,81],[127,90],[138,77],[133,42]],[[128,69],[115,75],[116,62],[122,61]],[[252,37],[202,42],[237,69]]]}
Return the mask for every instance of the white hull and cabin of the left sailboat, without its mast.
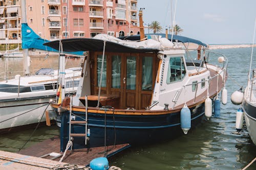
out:
{"label": "white hull and cabin of the left sailboat, without its mast", "polygon": [[[68,68],[66,95],[75,94],[81,77],[81,67]],[[57,93],[58,70],[41,68],[34,76],[19,76],[0,82],[0,134],[45,122],[46,110]],[[48,107],[49,106],[49,107]],[[41,118],[42,117],[42,118]],[[50,116],[53,118],[53,115]]]}

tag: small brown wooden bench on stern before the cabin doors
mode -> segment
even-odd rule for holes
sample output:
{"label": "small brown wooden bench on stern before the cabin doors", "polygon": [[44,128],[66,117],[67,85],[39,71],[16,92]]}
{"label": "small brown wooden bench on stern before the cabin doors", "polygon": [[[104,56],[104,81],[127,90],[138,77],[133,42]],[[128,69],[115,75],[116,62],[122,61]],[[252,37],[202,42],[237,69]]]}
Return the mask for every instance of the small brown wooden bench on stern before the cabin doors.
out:
{"label": "small brown wooden bench on stern before the cabin doors", "polygon": [[[84,106],[85,104],[85,96],[79,98]],[[88,106],[89,107],[97,107],[98,104],[98,94],[88,95]],[[102,106],[112,106],[114,108],[119,108],[120,97],[117,94],[101,94],[99,97],[99,107]]]}

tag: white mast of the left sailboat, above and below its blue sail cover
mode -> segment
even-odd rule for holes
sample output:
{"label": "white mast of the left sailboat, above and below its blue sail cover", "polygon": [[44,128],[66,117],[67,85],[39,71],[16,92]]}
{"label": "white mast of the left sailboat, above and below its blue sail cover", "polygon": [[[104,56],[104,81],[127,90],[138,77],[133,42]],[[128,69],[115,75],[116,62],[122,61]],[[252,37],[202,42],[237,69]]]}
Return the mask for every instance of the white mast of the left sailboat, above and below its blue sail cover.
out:
{"label": "white mast of the left sailboat, above and below its blue sail cover", "polygon": [[[26,11],[26,0],[20,2],[20,8],[22,9],[22,23],[27,23],[27,11]],[[29,58],[29,49],[23,49],[23,66],[24,66],[24,75],[30,74],[30,58]]]}

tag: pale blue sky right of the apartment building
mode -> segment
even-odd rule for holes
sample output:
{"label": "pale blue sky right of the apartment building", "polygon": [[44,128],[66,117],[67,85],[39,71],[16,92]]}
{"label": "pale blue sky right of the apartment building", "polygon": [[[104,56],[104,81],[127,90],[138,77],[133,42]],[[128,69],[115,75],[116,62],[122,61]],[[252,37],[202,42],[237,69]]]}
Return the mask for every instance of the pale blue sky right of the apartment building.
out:
{"label": "pale blue sky right of the apartment building", "polygon": [[[137,8],[145,8],[144,27],[159,21],[161,32],[165,33],[172,26],[175,3],[176,0],[138,0]],[[256,0],[177,0],[175,22],[183,30],[179,35],[207,44],[251,44],[255,17]]]}

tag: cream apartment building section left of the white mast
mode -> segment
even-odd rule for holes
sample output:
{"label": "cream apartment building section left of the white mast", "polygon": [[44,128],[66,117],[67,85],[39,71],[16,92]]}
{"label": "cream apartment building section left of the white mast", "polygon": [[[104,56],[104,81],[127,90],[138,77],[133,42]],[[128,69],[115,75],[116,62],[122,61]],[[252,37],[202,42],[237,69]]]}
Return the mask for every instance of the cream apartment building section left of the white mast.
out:
{"label": "cream apartment building section left of the white mast", "polygon": [[21,40],[20,1],[0,0],[0,43],[17,44]]}

